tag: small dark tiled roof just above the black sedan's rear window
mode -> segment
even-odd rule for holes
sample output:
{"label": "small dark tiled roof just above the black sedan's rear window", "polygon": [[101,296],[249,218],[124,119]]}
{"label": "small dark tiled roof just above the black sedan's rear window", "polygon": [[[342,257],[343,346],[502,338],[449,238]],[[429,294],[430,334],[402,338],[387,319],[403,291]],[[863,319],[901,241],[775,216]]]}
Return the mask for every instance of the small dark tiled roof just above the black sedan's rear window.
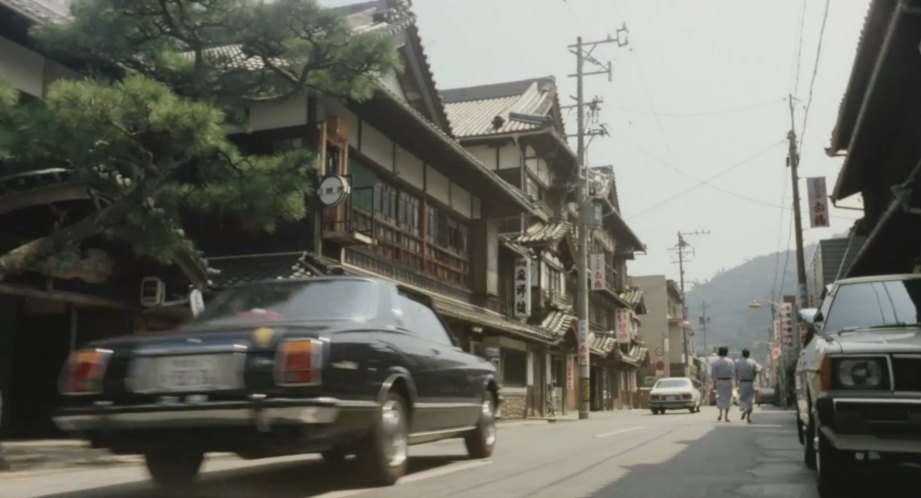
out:
{"label": "small dark tiled roof just above the black sedan's rear window", "polygon": [[278,253],[207,258],[208,267],[219,273],[211,276],[215,288],[222,289],[265,280],[287,280],[316,276],[304,261],[304,253]]}

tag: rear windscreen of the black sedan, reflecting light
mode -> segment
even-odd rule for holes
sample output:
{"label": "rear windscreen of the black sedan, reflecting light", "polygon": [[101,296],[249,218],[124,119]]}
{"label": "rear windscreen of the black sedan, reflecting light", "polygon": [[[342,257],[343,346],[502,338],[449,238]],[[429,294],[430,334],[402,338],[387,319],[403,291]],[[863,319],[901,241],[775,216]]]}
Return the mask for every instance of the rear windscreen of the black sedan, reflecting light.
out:
{"label": "rear windscreen of the black sedan, reflecting light", "polygon": [[373,282],[314,280],[272,282],[228,289],[208,303],[193,325],[367,320],[375,316]]}

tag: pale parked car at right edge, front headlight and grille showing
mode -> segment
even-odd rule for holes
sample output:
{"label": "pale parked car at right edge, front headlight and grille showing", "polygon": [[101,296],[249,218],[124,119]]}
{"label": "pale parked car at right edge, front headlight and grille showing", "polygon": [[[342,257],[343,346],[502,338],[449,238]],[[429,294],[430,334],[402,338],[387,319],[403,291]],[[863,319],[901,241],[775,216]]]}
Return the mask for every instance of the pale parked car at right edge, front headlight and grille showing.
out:
{"label": "pale parked car at right edge, front headlight and grille showing", "polygon": [[798,432],[820,495],[839,496],[855,466],[921,464],[921,275],[840,280],[801,315]]}

